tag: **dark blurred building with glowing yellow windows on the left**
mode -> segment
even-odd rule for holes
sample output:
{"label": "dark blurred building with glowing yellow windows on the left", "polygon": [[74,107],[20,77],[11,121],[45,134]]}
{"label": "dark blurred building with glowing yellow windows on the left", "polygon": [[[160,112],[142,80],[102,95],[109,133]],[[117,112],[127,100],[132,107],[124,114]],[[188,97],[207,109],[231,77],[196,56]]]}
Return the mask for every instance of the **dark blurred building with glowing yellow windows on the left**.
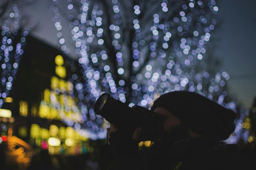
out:
{"label": "dark blurred building with glowing yellow windows on the left", "polygon": [[[8,146],[7,155],[26,164],[40,150],[67,156],[88,152],[88,138],[62,121],[68,117],[83,123],[72,75],[79,75],[77,62],[27,37],[11,93],[0,109],[0,144]],[[15,155],[19,148],[23,151]]]}

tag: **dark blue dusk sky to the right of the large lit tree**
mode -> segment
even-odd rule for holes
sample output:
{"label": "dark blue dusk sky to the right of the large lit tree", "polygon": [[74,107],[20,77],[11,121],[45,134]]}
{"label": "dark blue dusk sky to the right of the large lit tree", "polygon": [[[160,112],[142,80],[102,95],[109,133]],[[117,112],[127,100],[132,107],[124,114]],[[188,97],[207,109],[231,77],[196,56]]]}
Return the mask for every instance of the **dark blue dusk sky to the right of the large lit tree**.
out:
{"label": "dark blue dusk sky to the right of the large lit tree", "polygon": [[250,108],[256,97],[256,1],[218,2],[222,24],[216,29],[215,36],[220,40],[216,53],[231,75],[227,84],[229,94],[236,95],[239,102]]}

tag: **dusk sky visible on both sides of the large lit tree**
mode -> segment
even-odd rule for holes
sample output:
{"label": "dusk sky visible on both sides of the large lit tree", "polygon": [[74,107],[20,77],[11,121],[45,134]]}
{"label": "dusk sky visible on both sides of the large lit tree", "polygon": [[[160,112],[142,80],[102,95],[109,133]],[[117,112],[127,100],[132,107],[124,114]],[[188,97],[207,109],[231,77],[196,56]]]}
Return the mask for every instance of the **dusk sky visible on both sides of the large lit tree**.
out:
{"label": "dusk sky visible on both sides of the large lit tree", "polygon": [[[59,43],[50,3],[51,0],[38,1],[26,11],[31,13],[32,22],[39,26],[32,34],[57,48]],[[222,59],[223,68],[231,75],[227,84],[228,93],[235,95],[245,108],[251,108],[256,97],[256,1],[219,0],[217,6],[221,24],[212,35],[219,41],[216,55]],[[68,29],[63,28],[63,31]]]}

